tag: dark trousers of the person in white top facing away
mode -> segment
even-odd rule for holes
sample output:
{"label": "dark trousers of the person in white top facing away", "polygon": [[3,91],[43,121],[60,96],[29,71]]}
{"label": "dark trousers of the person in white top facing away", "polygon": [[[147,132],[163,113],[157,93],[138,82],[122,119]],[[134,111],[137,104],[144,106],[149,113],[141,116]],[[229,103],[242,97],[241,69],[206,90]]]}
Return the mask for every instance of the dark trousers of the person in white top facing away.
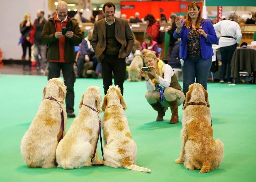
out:
{"label": "dark trousers of the person in white top facing away", "polygon": [[237,48],[237,44],[234,45],[230,45],[227,47],[222,47],[220,48],[220,52],[221,52],[221,61],[222,61],[222,65],[221,65],[221,72],[220,72],[220,79],[224,80],[225,76],[226,76],[226,70],[227,70],[227,79],[228,82],[231,82],[232,79],[230,78],[231,75],[231,59],[233,56],[233,53],[235,52]]}

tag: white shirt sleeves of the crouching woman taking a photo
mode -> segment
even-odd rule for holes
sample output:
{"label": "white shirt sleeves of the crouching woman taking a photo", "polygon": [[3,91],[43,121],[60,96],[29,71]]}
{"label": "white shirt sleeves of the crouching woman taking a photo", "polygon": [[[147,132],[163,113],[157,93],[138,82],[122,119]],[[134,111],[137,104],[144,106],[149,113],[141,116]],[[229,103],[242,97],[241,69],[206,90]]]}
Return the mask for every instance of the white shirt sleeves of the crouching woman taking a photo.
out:
{"label": "white shirt sleeves of the crouching woman taking a photo", "polygon": [[[163,71],[164,71],[164,78],[159,76],[157,81],[159,82],[159,86],[164,89],[164,88],[167,88],[170,86],[171,77],[174,75],[174,71],[173,71],[172,67],[168,64],[164,65]],[[151,79],[146,81],[146,87],[149,92],[153,92],[153,90],[155,89],[155,85],[153,84]]]}

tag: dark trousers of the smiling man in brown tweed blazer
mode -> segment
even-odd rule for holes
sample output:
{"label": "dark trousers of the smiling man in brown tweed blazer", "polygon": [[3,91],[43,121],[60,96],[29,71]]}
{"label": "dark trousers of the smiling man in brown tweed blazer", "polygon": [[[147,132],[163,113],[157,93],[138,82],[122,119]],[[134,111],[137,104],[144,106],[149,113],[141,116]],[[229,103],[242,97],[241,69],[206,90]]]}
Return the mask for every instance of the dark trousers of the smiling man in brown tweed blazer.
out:
{"label": "dark trousers of the smiling man in brown tweed blazer", "polygon": [[112,85],[112,71],[114,73],[114,84],[119,86],[121,94],[123,94],[123,82],[126,74],[125,58],[106,56],[102,60],[101,72],[105,95],[107,94],[108,87]]}

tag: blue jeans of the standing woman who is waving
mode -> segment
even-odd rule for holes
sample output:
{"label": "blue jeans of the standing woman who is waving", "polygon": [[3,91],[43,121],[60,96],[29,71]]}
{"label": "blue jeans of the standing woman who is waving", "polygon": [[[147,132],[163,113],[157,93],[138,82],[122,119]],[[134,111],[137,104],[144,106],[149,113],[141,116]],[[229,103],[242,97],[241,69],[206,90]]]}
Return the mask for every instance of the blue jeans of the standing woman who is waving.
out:
{"label": "blue jeans of the standing woman who is waving", "polygon": [[[211,68],[212,60],[201,57],[187,57],[182,68],[183,93],[186,95],[189,85],[194,82],[200,83],[207,90],[207,78]],[[185,101],[183,102],[184,105]]]}

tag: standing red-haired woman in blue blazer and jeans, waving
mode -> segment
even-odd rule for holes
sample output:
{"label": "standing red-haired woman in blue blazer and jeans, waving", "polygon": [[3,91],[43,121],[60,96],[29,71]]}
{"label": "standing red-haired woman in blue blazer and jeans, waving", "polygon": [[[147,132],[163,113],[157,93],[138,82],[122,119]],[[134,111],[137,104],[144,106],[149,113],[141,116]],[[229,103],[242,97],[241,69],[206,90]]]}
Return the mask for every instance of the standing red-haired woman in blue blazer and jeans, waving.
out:
{"label": "standing red-haired woman in blue blazer and jeans, waving", "polygon": [[[214,55],[211,44],[218,43],[218,37],[210,20],[203,19],[197,2],[188,5],[184,21],[175,18],[177,29],[174,38],[181,38],[179,58],[183,74],[183,92],[186,95],[188,86],[196,83],[207,89],[207,77],[211,68],[211,57]],[[184,103],[183,103],[184,104]]]}

